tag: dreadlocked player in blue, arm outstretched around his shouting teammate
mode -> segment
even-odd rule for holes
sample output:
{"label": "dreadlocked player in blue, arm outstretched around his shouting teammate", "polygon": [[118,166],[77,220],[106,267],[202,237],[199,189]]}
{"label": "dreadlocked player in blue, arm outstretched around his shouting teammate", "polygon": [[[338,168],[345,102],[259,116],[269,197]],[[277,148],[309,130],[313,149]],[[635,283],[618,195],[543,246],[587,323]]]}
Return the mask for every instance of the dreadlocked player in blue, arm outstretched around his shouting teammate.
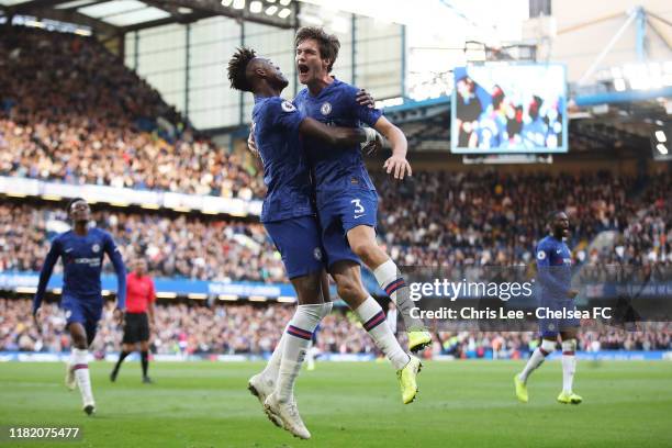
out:
{"label": "dreadlocked player in blue, arm outstretched around his shouting teammate", "polygon": [[329,313],[328,287],[324,287],[324,256],[315,220],[313,189],[301,136],[333,145],[357,145],[381,139],[374,131],[329,127],[307,119],[280,97],[287,78],[270,60],[239,48],[228,63],[234,89],[255,96],[253,130],[256,150],[264,164],[268,187],[261,222],[282,256],[299,306],[264,372],[249,380],[249,390],[264,404],[271,422],[293,435],[310,438],[293,396],[293,384],[312,334]]}

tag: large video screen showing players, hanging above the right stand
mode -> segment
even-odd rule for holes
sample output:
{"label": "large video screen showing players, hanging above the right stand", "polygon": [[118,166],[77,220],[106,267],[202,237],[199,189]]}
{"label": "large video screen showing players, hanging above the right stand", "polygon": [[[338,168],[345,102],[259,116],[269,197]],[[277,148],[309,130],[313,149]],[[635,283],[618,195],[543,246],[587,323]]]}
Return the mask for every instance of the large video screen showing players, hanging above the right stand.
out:
{"label": "large video screen showing players, hanging above the right stand", "polygon": [[567,153],[563,65],[494,64],[453,74],[452,153]]}

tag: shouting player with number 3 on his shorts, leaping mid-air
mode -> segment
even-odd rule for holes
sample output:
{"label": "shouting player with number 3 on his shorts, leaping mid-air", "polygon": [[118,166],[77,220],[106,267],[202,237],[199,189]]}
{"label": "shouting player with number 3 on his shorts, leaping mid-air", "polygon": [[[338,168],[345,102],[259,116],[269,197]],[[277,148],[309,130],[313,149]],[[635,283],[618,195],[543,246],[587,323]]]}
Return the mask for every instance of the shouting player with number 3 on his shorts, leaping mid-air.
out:
{"label": "shouting player with number 3 on his shorts, leaping mid-air", "polygon": [[[307,87],[294,99],[296,108],[325,124],[359,127],[363,123],[376,128],[392,145],[392,157],[383,168],[399,180],[411,176],[403,132],[380,110],[355,101],[357,88],[331,76],[340,47],[338,38],[321,27],[303,27],[294,43],[299,80]],[[432,343],[432,336],[419,320],[411,316],[415,305],[408,288],[394,261],[376,242],[378,194],[360,152],[356,146],[334,150],[314,138],[306,138],[304,144],[314,176],[329,273],[341,292],[351,296],[350,301],[363,303],[369,294],[361,288],[361,259],[396,304],[408,333],[411,351],[423,349]]]}

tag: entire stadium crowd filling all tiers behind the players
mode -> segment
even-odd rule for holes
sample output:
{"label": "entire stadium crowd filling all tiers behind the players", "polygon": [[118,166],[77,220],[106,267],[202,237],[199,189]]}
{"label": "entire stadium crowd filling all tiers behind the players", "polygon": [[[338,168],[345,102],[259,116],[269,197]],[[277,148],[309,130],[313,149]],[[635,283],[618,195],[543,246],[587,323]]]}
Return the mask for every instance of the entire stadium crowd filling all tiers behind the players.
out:
{"label": "entire stadium crowd filling all tiers behind the players", "polygon": [[[199,135],[101,44],[20,26],[0,26],[0,176],[240,199],[264,194],[248,155]],[[372,177],[381,197],[380,242],[401,266],[528,265],[546,233],[545,217],[562,209],[572,222],[573,257],[592,268],[591,276],[606,265],[672,267],[667,173],[641,179],[609,172],[419,171],[403,183],[381,172]],[[155,277],[285,280],[258,223],[119,210],[97,210],[93,220],[113,234],[124,259],[146,258]],[[0,272],[40,270],[49,239],[67,228],[61,209],[0,204]],[[613,242],[591,247],[602,231],[614,231]],[[48,324],[40,337],[30,301],[0,300],[0,349],[66,349],[61,313],[53,304],[45,310]],[[160,305],[154,349],[266,352],[290,314],[283,305]],[[333,313],[322,325],[320,348],[372,351],[366,333],[352,331],[356,325],[347,314]],[[96,349],[117,350],[120,338],[108,310]],[[458,357],[525,356],[536,344],[531,333],[439,332],[437,340],[437,352]],[[670,348],[670,327],[585,328],[580,347]]]}

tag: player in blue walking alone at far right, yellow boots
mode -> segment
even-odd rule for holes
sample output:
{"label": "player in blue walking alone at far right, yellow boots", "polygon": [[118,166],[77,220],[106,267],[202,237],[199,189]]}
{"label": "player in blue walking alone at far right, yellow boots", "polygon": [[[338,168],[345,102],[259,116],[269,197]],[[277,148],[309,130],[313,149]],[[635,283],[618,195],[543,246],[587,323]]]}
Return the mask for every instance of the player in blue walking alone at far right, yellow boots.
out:
{"label": "player in blue walking alone at far right, yellow boots", "polygon": [[[572,289],[572,254],[564,243],[569,235],[569,217],[564,212],[552,212],[548,217],[551,234],[539,242],[536,248],[539,306],[546,316],[548,312],[574,313],[574,298],[579,291]],[[548,310],[548,311],[544,311]],[[579,320],[553,318],[539,320],[541,345],[535,349],[525,369],[514,377],[516,396],[527,403],[527,379],[544,362],[544,359],[556,350],[558,334],[562,339],[562,392],[558,401],[563,404],[579,404],[583,399],[572,390],[576,370],[576,332]]]}

